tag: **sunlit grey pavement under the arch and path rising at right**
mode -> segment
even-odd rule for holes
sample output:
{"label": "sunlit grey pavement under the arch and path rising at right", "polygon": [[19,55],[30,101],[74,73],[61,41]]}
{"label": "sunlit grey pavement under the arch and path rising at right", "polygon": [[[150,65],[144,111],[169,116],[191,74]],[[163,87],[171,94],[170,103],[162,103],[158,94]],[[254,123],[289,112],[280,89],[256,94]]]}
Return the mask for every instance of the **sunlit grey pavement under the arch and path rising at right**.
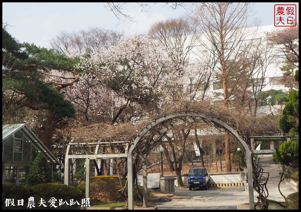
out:
{"label": "sunlit grey pavement under the arch and path rising at right", "polygon": [[[269,181],[267,183],[268,199],[276,201],[284,201],[284,198],[278,191],[278,182],[281,172],[279,165],[272,162],[272,155],[259,156],[259,164],[264,172],[270,172]],[[290,188],[289,184],[284,181],[280,185],[283,195],[296,192]],[[258,193],[254,190],[254,201],[257,202]],[[237,205],[249,203],[249,192],[244,191],[244,186],[230,187],[210,187],[207,191],[204,188],[192,189],[177,188],[175,196],[169,202],[153,203],[157,205],[158,210],[189,210],[189,209],[210,209],[210,210],[237,210]]]}

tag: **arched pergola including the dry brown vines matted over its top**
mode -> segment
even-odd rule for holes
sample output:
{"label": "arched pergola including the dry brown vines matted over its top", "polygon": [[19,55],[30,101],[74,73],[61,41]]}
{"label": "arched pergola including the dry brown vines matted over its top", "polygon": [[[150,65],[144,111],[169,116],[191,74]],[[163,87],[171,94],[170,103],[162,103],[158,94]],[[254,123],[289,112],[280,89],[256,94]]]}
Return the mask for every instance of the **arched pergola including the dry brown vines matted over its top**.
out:
{"label": "arched pergola including the dry brown vines matted over its top", "polygon": [[[146,171],[146,157],[151,148],[154,147],[162,135],[168,130],[181,124],[190,124],[193,122],[209,123],[209,125],[216,128],[223,128],[230,132],[243,145],[247,155],[247,173],[252,176],[252,153],[256,154],[258,150],[251,150],[247,142],[249,135],[261,135],[267,130],[277,130],[273,122],[267,119],[260,119],[252,115],[246,116],[234,109],[225,110],[223,106],[212,105],[208,102],[181,102],[181,104],[170,105],[167,108],[158,110],[156,112],[148,113],[148,117],[144,117],[144,122],[139,123],[123,123],[122,125],[76,125],[74,129],[68,128],[66,133],[73,138],[70,142],[65,155],[65,184],[70,184],[70,160],[76,158],[92,159],[127,159],[128,168],[128,198],[129,209],[134,209],[133,202],[133,153],[138,150],[142,157],[143,164],[143,198],[144,207],[147,205],[147,171]],[[278,124],[278,123],[277,123]],[[146,127],[144,127],[146,126]],[[83,128],[82,131],[79,131]],[[70,132],[70,130],[72,132]],[[83,133],[86,135],[84,136]],[[97,135],[97,137],[96,137]],[[120,136],[123,138],[120,140]],[[110,140],[110,142],[106,142]],[[77,143],[76,143],[77,142]],[[123,152],[100,153],[99,148],[105,147],[108,144],[122,145]],[[251,142],[252,143],[252,142]],[[79,145],[90,149],[89,154],[72,155],[71,147]],[[89,146],[90,145],[90,146]],[[251,144],[252,145],[252,144]],[[146,151],[142,153],[141,147],[146,147]],[[252,147],[253,148],[253,147]],[[252,152],[253,151],[253,152]],[[261,152],[260,152],[261,153]],[[269,152],[272,153],[272,152]],[[90,177],[89,164],[86,163],[86,198],[90,196]],[[248,187],[253,188],[252,180],[248,181]],[[254,209],[254,194],[253,189],[249,189],[250,209]]]}

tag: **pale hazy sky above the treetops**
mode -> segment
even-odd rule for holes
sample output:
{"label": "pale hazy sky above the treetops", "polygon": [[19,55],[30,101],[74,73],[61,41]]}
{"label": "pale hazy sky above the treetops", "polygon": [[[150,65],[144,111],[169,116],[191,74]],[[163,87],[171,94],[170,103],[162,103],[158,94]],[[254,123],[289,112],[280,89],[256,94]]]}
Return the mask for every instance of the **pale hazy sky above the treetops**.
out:
{"label": "pale hazy sky above the treetops", "polygon": [[[141,2],[139,2],[141,3]],[[71,33],[88,30],[89,27],[103,29],[121,28],[132,33],[146,33],[151,24],[168,18],[184,15],[184,9],[172,10],[164,3],[148,3],[152,8],[141,13],[137,3],[127,3],[124,11],[137,20],[137,23],[118,24],[112,12],[104,8],[105,3],[93,2],[2,2],[2,23],[8,23],[10,33],[20,43],[34,43],[36,46],[50,48],[49,40],[61,31]],[[298,2],[256,2],[252,11],[262,20],[261,25],[274,25],[274,5],[295,4],[297,22],[299,21]],[[277,28],[277,27],[275,27]]]}

